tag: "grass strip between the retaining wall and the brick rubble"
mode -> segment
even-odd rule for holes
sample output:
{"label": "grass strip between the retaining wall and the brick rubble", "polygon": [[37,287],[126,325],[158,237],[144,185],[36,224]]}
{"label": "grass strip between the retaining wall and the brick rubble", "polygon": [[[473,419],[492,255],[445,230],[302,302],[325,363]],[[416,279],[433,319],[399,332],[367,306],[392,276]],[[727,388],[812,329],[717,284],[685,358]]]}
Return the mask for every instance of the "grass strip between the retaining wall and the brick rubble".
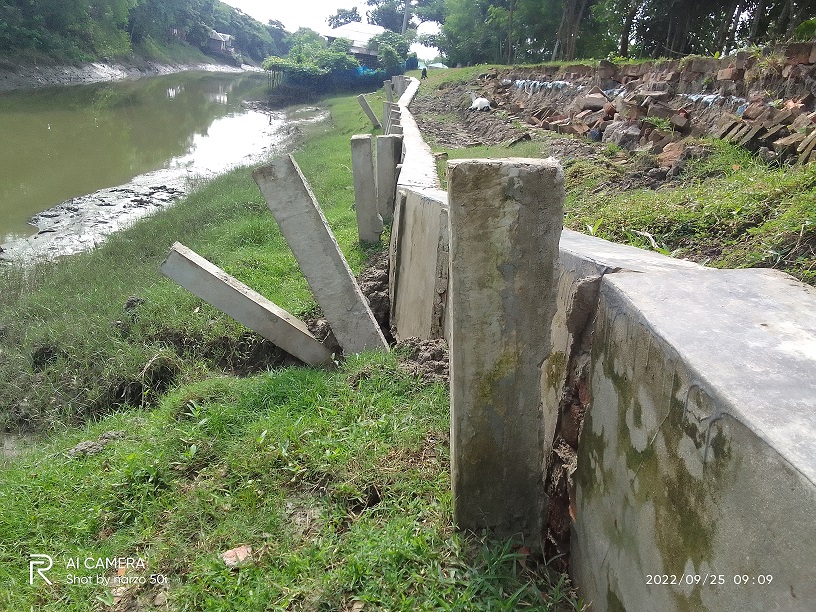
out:
{"label": "grass strip between the retaining wall and the brick rubble", "polygon": [[[428,92],[446,84],[469,82],[488,68],[496,67],[431,70],[419,95],[433,95]],[[547,155],[549,140],[570,138],[532,129],[531,134],[532,141],[513,147],[444,151],[451,159],[541,157]],[[816,164],[770,167],[725,142],[712,140],[704,145],[713,151],[710,156],[689,160],[679,185],[658,190],[618,186],[627,169],[646,170],[653,164],[645,155],[630,156],[624,164],[611,163],[599,144],[597,158],[565,161],[564,225],[653,249],[648,238],[636,232],[648,233],[656,250],[664,254],[713,267],[772,267],[816,284]]]}

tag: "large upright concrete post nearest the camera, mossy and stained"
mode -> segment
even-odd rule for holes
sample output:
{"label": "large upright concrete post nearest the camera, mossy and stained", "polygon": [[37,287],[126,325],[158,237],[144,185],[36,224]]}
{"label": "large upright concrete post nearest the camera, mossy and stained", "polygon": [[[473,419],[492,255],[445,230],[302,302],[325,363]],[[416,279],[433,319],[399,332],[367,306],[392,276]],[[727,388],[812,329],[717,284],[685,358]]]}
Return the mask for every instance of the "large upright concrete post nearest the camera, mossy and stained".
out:
{"label": "large upright concrete post nearest the camera, mossy and stained", "polygon": [[564,175],[552,159],[449,162],[448,201],[454,519],[538,546]]}

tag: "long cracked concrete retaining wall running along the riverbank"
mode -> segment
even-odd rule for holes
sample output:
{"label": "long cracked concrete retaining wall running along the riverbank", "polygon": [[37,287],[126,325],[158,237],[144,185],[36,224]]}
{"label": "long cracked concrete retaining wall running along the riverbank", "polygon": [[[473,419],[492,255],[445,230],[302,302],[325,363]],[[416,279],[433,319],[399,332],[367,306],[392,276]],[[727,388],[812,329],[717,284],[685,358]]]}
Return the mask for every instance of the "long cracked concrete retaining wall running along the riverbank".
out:
{"label": "long cracked concrete retaining wall running along the riverbank", "polygon": [[[446,199],[411,122],[403,108],[394,324],[439,337]],[[557,274],[542,540],[571,552],[591,609],[813,609],[816,292],[570,231]]]}

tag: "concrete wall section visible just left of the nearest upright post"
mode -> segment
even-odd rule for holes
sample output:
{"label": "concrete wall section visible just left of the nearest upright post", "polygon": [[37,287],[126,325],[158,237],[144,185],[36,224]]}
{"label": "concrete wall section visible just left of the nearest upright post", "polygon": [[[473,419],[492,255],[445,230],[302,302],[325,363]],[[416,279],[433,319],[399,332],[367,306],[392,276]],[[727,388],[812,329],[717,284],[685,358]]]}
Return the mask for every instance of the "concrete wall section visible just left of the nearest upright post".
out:
{"label": "concrete wall section visible just left of the nearest upright post", "polygon": [[448,338],[448,194],[403,190],[391,228],[391,326],[397,340]]}

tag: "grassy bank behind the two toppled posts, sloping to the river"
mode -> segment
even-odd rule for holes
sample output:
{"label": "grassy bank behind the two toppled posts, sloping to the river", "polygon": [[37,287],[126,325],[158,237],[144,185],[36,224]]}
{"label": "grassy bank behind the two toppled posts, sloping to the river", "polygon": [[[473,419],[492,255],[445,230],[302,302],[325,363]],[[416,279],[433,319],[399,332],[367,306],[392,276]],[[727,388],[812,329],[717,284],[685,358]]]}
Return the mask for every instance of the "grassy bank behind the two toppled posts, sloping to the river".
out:
{"label": "grassy bank behind the two toppled posts, sloping to the river", "polygon": [[[338,132],[359,133],[366,125],[350,102],[338,102],[333,121],[342,126],[330,132],[336,137],[295,156],[359,270],[365,253],[355,244],[350,148]],[[36,429],[76,423],[123,399],[150,402],[151,362],[191,380],[230,358],[228,340],[247,330],[158,272],[174,241],[294,314],[314,308],[249,171],[236,170],[93,252],[32,270],[0,267],[0,420]],[[125,313],[133,294],[145,302]],[[195,343],[181,357],[166,342],[178,336]],[[134,384],[148,396],[123,398]]]}

